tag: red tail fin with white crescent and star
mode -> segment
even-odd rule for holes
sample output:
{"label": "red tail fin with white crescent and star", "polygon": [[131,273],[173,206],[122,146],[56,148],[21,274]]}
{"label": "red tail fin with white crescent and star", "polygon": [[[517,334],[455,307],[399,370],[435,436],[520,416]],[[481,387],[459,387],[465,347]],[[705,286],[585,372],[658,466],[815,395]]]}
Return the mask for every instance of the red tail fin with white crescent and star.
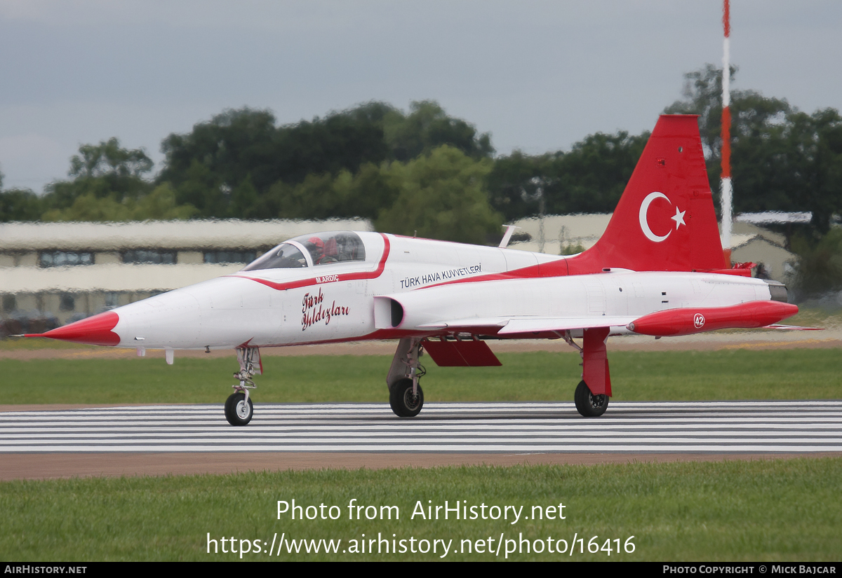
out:
{"label": "red tail fin with white crescent and star", "polygon": [[727,267],[697,117],[658,119],[605,234],[568,266],[571,274]]}

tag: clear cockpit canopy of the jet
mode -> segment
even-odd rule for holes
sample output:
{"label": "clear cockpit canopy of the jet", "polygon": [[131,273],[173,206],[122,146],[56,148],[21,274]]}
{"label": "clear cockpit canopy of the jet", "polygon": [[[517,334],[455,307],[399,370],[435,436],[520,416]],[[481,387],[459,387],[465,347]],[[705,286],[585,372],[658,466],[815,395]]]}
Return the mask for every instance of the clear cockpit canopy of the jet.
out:
{"label": "clear cockpit canopy of the jet", "polygon": [[289,239],[261,255],[242,271],[293,269],[364,260],[365,245],[360,235],[353,231],[330,231]]}

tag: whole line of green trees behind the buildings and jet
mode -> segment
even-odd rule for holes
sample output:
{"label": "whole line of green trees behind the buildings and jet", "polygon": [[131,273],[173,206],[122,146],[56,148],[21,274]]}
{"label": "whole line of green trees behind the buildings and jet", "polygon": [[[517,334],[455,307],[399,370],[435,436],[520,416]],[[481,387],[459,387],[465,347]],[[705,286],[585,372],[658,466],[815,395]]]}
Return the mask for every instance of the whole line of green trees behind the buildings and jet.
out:
{"label": "whole line of green trees behind the buildings and jet", "polygon": [[[707,65],[685,76],[682,99],[664,110],[700,115],[714,190],[720,94],[721,71]],[[735,211],[811,211],[810,226],[791,237],[802,253],[815,250],[842,213],[839,111],[803,113],[754,91],[733,92],[731,110]],[[570,150],[495,156],[488,133],[432,101],[408,112],[366,102],[286,125],[241,108],[163,139],[154,174],[144,150],[114,138],[81,146],[68,178],[42,194],[3,189],[0,175],[0,222],[362,217],[385,232],[493,242],[502,223],[539,211],[612,211],[647,138],[596,133]]]}

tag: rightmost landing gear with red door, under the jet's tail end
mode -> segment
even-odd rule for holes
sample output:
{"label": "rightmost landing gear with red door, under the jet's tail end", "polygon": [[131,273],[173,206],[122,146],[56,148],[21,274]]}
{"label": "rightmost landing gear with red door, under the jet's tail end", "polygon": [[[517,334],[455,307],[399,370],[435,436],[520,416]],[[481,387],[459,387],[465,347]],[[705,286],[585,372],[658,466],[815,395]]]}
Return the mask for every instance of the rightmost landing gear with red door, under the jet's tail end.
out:
{"label": "rightmost landing gear with red door, under the jet's tail end", "polygon": [[573,401],[576,409],[585,418],[597,418],[608,409],[608,398],[611,396],[611,376],[608,370],[608,354],[605,340],[608,339],[610,328],[600,327],[585,329],[582,347],[579,347],[569,331],[562,337],[568,345],[578,349],[582,356],[582,381],[576,387]]}

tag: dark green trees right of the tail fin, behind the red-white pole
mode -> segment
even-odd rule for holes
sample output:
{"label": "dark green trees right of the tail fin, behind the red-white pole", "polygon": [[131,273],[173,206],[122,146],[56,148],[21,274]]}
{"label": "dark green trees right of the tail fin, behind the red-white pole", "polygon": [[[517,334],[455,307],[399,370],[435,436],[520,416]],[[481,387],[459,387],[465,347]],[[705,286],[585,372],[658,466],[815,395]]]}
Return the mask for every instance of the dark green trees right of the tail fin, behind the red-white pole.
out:
{"label": "dark green trees right of the tail fin, behind the red-white pole", "polygon": [[[721,73],[706,65],[686,75],[684,100],[665,110],[701,115],[711,183],[721,174]],[[731,111],[736,212],[812,211],[813,230],[827,232],[833,214],[842,210],[839,112],[828,108],[809,115],[786,100],[754,91],[733,92]]]}

